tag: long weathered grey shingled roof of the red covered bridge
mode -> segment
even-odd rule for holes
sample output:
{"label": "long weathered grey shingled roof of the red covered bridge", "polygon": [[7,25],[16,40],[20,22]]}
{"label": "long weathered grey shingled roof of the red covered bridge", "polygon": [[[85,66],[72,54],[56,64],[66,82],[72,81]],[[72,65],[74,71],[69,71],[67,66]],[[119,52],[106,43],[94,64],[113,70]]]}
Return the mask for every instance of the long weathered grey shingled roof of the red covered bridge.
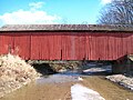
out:
{"label": "long weathered grey shingled roof of the red covered bridge", "polygon": [[133,31],[122,24],[6,24],[0,31]]}

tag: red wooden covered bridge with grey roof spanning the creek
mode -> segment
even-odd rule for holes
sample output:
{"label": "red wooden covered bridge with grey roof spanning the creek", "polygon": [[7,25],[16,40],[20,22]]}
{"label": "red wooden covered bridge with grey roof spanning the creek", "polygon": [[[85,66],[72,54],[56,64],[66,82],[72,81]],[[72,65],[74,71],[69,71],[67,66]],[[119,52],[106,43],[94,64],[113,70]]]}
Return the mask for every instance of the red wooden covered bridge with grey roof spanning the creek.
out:
{"label": "red wooden covered bridge with grey roof spanning the creek", "polygon": [[31,60],[117,60],[133,54],[133,27],[8,24],[0,28],[0,54]]}

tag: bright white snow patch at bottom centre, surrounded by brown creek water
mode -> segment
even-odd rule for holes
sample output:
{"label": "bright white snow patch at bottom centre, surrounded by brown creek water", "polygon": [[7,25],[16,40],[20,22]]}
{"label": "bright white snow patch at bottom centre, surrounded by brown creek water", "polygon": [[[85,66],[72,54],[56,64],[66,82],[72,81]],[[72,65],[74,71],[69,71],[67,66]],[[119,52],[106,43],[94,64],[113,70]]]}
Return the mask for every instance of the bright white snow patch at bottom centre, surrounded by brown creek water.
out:
{"label": "bright white snow patch at bottom centre, surrounded by brown creek water", "polygon": [[79,83],[71,87],[72,100],[105,100],[96,91],[88,89]]}

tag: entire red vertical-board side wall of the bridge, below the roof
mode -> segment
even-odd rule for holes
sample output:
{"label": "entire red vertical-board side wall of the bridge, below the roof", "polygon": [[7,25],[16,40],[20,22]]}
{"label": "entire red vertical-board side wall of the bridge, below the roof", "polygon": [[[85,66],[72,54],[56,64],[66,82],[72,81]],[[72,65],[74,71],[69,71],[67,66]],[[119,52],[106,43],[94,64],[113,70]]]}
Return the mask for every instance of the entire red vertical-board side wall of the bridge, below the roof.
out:
{"label": "entire red vertical-board side wall of the bridge, below the roof", "polygon": [[124,32],[4,32],[0,54],[32,60],[116,60],[133,54],[133,33]]}

